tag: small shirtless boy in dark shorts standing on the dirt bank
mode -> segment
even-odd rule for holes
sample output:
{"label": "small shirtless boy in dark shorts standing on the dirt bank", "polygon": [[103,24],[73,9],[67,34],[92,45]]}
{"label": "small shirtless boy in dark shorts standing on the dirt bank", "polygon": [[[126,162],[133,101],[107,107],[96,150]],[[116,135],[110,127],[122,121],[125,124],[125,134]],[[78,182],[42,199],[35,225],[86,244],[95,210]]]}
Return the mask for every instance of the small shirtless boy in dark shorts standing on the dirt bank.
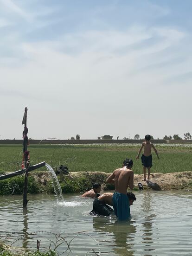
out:
{"label": "small shirtless boy in dark shorts standing on the dirt bank", "polygon": [[145,135],[145,141],[143,141],[141,148],[139,150],[138,155],[136,156],[136,159],[139,159],[139,156],[141,154],[142,148],[144,149],[144,152],[141,156],[141,163],[143,165],[143,174],[144,174],[144,179],[143,181],[146,181],[146,168],[147,168],[147,173],[148,173],[148,180],[150,179],[150,171],[152,165],[152,155],[151,155],[151,148],[153,147],[155,154],[157,155],[157,158],[159,158],[159,155],[157,153],[156,148],[154,147],[154,144],[150,142],[151,136],[149,134]]}

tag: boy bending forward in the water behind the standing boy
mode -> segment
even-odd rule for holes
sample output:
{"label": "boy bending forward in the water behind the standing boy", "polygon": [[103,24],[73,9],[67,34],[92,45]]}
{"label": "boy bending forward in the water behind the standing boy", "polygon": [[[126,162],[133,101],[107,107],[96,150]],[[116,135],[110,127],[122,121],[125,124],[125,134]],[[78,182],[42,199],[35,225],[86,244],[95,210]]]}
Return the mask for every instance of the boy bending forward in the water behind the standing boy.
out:
{"label": "boy bending forward in the water behind the standing boy", "polygon": [[[113,205],[113,193],[107,192],[103,193],[98,198],[95,198],[93,201],[93,210],[90,211],[90,214],[98,214],[103,216],[110,216],[114,214],[113,209],[109,205]],[[136,200],[134,193],[127,193],[127,200],[129,202],[129,206],[133,205],[133,202]],[[128,208],[128,215],[130,215],[130,208]]]}

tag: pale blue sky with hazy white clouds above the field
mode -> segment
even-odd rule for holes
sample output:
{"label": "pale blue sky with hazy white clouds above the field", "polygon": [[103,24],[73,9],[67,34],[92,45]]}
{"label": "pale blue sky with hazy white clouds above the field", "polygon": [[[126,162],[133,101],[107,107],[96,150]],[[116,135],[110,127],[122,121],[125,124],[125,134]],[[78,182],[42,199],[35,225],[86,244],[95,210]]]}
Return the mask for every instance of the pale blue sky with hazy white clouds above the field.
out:
{"label": "pale blue sky with hazy white clouds above the field", "polygon": [[192,134],[191,0],[0,0],[0,139]]}

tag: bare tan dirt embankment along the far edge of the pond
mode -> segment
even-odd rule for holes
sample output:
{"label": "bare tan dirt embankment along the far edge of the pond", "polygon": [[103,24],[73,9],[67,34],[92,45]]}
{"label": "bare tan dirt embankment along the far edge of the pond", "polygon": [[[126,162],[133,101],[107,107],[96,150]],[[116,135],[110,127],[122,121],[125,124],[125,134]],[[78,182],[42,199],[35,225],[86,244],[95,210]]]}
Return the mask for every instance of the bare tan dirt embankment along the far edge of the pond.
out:
{"label": "bare tan dirt embankment along the far edge of the pond", "polygon": [[[41,184],[46,184],[47,180],[50,179],[47,173],[41,173],[38,175],[38,180]],[[89,184],[94,182],[99,182],[102,184],[104,190],[113,189],[113,186],[106,185],[105,180],[109,177],[111,173],[103,172],[73,172],[69,175],[64,175],[71,180],[87,180]],[[58,179],[59,179],[58,175]],[[138,188],[138,183],[141,182],[144,189],[149,189],[147,183],[142,181],[143,175],[134,174],[134,187]],[[171,189],[192,189],[192,171],[179,172],[179,173],[151,173],[150,181],[157,183],[162,190],[171,190]]]}

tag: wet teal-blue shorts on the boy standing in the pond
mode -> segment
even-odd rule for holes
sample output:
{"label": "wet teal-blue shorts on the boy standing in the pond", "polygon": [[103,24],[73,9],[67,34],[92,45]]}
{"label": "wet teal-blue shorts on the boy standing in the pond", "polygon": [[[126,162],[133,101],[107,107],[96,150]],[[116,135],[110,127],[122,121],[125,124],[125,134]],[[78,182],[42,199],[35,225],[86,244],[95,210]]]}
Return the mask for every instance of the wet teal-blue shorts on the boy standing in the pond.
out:
{"label": "wet teal-blue shorts on the boy standing in the pond", "polygon": [[119,220],[131,218],[128,196],[119,192],[113,194],[113,208]]}

